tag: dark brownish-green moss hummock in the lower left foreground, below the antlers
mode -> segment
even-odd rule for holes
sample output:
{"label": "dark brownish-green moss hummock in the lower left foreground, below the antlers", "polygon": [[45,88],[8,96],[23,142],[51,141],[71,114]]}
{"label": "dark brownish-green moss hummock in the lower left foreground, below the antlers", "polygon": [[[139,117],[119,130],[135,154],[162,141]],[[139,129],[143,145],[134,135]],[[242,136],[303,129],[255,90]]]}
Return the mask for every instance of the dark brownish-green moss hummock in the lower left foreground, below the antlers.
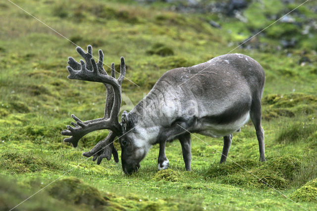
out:
{"label": "dark brownish-green moss hummock in the lower left foreground, below the antlers", "polygon": [[107,205],[107,198],[103,197],[96,188],[75,177],[56,181],[49,187],[48,192],[54,198],[65,200],[71,204],[86,204],[95,208]]}

